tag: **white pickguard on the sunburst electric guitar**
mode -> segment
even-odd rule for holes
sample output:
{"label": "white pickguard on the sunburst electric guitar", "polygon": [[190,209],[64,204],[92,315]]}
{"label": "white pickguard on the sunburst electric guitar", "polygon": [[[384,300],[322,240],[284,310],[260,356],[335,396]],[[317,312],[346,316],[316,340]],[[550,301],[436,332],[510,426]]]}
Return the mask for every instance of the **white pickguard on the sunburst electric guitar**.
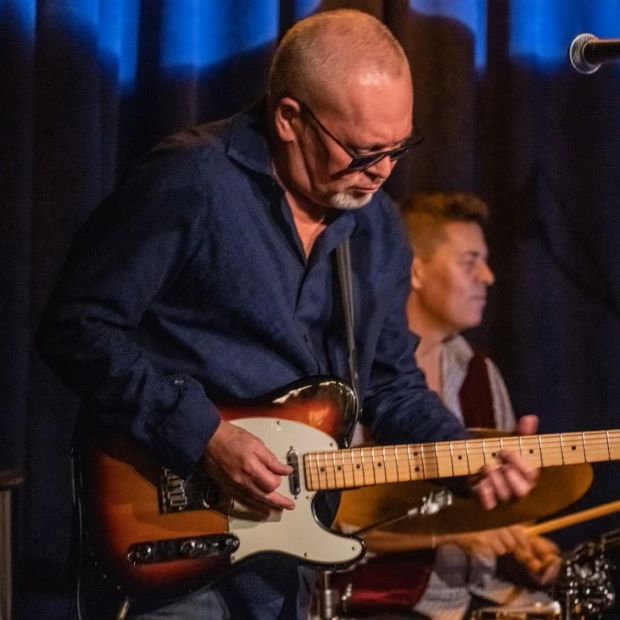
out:
{"label": "white pickguard on the sunburst electric guitar", "polygon": [[326,433],[311,426],[277,418],[243,418],[234,424],[256,435],[267,447],[286,463],[292,448],[299,458],[299,483],[301,493],[291,494],[288,478],[283,478],[278,492],[291,498],[294,510],[272,511],[266,518],[257,520],[252,513],[244,514],[243,506],[235,504],[229,516],[230,533],[239,538],[239,549],[231,556],[233,564],[255,553],[286,553],[300,560],[318,565],[351,563],[364,554],[364,544],[357,538],[341,536],[324,528],[312,511],[314,491],[305,486],[303,455],[306,452],[337,450],[338,445]]}

